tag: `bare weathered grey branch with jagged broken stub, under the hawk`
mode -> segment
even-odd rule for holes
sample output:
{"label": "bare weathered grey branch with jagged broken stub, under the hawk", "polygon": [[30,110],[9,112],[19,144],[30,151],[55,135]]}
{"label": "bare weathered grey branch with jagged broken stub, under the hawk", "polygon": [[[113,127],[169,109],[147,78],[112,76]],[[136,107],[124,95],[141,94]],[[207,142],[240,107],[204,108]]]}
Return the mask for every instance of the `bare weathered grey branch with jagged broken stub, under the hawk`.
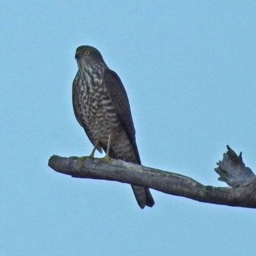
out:
{"label": "bare weathered grey branch with jagged broken stub, under the hawk", "polygon": [[118,182],[147,186],[163,193],[184,196],[199,202],[237,207],[256,207],[256,177],[239,156],[228,147],[215,171],[219,180],[232,188],[204,186],[200,182],[178,173],[164,172],[138,164],[111,159],[52,156],[49,166],[56,172],[85,179],[115,180]]}

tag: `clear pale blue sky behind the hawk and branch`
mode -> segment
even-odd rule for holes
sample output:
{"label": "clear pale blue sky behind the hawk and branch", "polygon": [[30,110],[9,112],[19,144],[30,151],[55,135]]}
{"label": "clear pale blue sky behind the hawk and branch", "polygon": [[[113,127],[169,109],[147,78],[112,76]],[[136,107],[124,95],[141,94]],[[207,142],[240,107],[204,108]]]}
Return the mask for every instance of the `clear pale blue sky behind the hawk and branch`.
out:
{"label": "clear pale blue sky behind the hawk and branch", "polygon": [[[76,47],[129,95],[141,161],[213,186],[226,145],[256,169],[255,1],[0,2],[0,255],[255,255],[255,210],[75,179],[52,154],[92,145],[74,117]],[[97,154],[100,156],[100,154]]]}

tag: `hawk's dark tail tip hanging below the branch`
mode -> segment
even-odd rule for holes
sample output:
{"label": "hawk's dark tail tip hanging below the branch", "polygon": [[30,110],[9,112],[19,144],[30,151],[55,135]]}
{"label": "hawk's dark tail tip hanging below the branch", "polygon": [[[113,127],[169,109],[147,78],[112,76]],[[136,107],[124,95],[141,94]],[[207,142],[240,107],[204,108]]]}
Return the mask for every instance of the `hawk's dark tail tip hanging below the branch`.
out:
{"label": "hawk's dark tail tip hanging below the branch", "polygon": [[141,209],[143,209],[146,205],[148,207],[152,207],[155,204],[154,199],[148,188],[136,185],[131,186],[134,196],[138,202],[138,205],[140,205]]}

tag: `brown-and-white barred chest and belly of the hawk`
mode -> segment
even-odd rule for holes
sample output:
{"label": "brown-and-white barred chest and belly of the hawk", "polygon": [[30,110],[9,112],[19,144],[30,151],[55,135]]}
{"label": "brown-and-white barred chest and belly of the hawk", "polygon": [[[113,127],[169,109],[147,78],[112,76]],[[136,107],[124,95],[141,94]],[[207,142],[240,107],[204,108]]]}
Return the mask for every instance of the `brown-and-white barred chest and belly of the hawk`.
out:
{"label": "brown-and-white barred chest and belly of the hawk", "polygon": [[93,138],[107,145],[109,133],[117,131],[120,123],[102,77],[87,72],[79,72],[77,76],[77,112]]}

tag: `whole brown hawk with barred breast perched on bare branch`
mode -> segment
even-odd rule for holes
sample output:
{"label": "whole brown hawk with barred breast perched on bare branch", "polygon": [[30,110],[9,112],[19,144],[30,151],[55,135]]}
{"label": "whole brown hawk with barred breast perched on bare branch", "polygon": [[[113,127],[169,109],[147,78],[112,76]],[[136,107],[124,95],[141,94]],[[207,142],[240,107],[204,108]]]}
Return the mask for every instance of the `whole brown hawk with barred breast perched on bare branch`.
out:
{"label": "whole brown hawk with barred breast perched on bare branch", "polygon": [[[141,164],[129,100],[120,77],[92,46],[79,46],[75,58],[78,70],[72,102],[76,119],[94,146],[90,157],[103,148],[106,157]],[[131,186],[141,209],[154,205],[148,188]]]}

